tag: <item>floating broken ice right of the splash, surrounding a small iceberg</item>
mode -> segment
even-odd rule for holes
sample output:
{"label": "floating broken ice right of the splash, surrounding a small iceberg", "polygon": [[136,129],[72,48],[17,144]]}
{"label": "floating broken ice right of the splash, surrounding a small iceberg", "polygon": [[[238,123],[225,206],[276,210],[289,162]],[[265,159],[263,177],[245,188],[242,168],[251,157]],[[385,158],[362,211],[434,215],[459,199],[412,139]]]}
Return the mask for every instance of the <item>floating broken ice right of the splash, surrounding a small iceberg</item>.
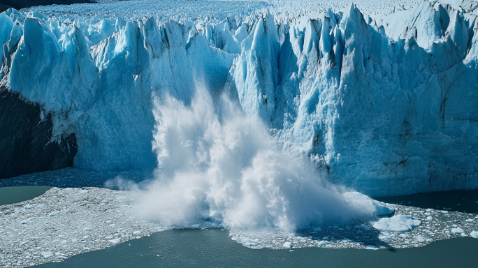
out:
{"label": "floating broken ice right of the splash, surrounding a small iceberg", "polygon": [[[229,236],[243,246],[249,248],[412,248],[426,246],[433,241],[456,237],[477,238],[478,215],[462,212],[449,212],[435,209],[423,210],[419,207],[395,205],[395,215],[408,216],[421,221],[421,225],[408,232],[381,231],[374,228],[377,221],[389,217],[375,217],[354,221],[347,224],[336,224],[299,230],[296,233],[244,232],[230,230]],[[431,215],[432,219],[427,219]],[[396,217],[396,216],[392,216]]]}

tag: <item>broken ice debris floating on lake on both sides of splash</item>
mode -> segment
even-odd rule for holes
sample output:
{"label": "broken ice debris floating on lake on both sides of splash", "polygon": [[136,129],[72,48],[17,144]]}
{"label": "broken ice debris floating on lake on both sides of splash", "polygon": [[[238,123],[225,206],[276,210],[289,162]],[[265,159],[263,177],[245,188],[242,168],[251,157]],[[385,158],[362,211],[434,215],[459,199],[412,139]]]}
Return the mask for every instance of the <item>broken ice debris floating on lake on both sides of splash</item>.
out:
{"label": "broken ice debris floating on lake on both sides of splash", "polygon": [[[17,204],[0,206],[0,265],[25,267],[61,261],[72,255],[95,251],[166,230],[135,214],[131,192],[86,187],[108,180],[140,181],[150,172],[88,172],[75,168],[27,174],[3,179],[0,186],[50,185],[45,194]],[[85,186],[85,187],[81,187]],[[72,188],[74,187],[74,188]],[[395,215],[421,221],[410,232],[383,232],[373,228],[374,217],[347,224],[284,232],[247,232],[231,229],[230,237],[249,248],[408,248],[454,237],[478,237],[478,215],[455,211],[393,205]],[[220,223],[198,221],[187,228],[222,228]],[[459,231],[459,232],[458,232]],[[462,232],[463,231],[463,232]]]}

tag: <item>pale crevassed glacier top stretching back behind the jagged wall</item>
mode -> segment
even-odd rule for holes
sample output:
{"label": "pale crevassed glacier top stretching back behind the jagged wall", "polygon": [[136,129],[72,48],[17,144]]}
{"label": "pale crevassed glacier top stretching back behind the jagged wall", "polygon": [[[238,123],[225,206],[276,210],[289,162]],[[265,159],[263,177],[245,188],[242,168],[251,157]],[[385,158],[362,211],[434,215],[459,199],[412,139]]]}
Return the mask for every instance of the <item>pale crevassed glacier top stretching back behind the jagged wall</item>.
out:
{"label": "pale crevassed glacier top stretching back behind the jagged wall", "polygon": [[172,19],[178,22],[195,20],[199,17],[216,17],[224,20],[227,16],[247,17],[262,14],[266,10],[281,17],[302,17],[309,15],[317,17],[329,8],[337,13],[352,3],[356,4],[362,13],[367,15],[389,14],[398,10],[408,9],[419,3],[419,0],[341,0],[341,1],[303,1],[303,0],[267,0],[267,1],[152,1],[99,0],[97,3],[78,3],[69,6],[34,6],[23,11],[38,11],[47,17],[81,16],[90,22],[97,22],[102,17],[124,16],[126,21],[141,20],[150,16],[160,20]]}

